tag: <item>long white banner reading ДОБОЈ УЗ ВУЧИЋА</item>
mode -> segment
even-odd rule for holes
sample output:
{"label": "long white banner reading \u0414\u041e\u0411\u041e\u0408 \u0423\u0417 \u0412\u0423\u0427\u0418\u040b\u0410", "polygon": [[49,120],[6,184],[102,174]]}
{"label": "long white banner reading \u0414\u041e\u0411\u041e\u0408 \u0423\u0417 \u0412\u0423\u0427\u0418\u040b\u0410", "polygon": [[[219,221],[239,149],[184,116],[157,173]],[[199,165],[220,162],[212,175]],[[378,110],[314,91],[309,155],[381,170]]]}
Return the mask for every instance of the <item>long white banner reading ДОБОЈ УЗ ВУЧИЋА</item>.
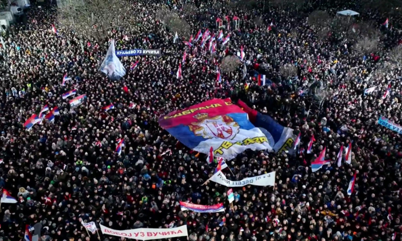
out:
{"label": "long white banner reading \u0414\u041e\u0411\u041e\u0408 \u0423\u0417 \u0412\u0423\u0427\u0418\u040b\u0410", "polygon": [[127,230],[116,230],[110,229],[99,224],[100,230],[103,234],[113,235],[117,237],[125,237],[129,239],[137,240],[150,240],[150,239],[168,239],[173,237],[189,236],[187,234],[187,225],[183,225],[171,229],[127,229]]}

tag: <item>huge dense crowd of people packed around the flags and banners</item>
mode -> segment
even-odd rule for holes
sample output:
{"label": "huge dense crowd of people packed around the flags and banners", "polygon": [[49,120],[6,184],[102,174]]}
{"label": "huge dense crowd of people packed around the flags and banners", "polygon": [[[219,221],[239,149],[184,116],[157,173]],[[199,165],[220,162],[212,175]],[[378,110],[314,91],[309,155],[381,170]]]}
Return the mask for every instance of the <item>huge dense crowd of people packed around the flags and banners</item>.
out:
{"label": "huge dense crowd of people packed around the flags and banners", "polygon": [[[218,45],[213,57],[201,48],[187,51],[183,78],[177,79],[187,48],[183,41],[188,39],[179,36],[180,41],[173,43],[174,33],[153,16],[162,5],[180,9],[182,3],[134,2],[141,2],[143,8],[127,12],[127,19],[141,24],[124,33],[113,26],[108,38],[116,41],[117,49],[161,49],[162,56],[121,57],[127,73],[118,81],[98,71],[109,42],[89,38],[82,52],[80,38],[57,25],[57,10],[50,4],[33,4],[25,13],[27,21],[12,25],[3,35],[0,187],[18,200],[0,204],[3,240],[26,240],[25,225],[39,227],[35,232],[43,241],[97,239],[81,221],[117,230],[187,224],[189,237],[171,241],[401,238],[402,140],[398,133],[377,125],[377,120],[382,115],[400,123],[402,70],[373,75],[378,62],[389,61],[389,50],[402,39],[397,27],[381,26],[386,17],[375,12],[360,16],[378,22],[384,36],[381,49],[363,58],[347,36],[329,42],[308,25],[309,11],[324,5],[310,4],[305,12],[296,13],[269,5],[229,8],[227,1],[196,1],[199,12],[187,16],[193,35],[207,27],[217,34],[215,19],[226,15],[238,16],[240,29],[224,30],[230,42]],[[215,7],[217,3],[221,8]],[[347,3],[343,4],[326,10],[343,10],[339,8]],[[255,16],[263,22],[256,24]],[[393,21],[397,26],[399,19]],[[146,46],[144,36],[149,36]],[[222,83],[217,83],[215,65],[241,47],[246,76],[241,64],[236,71],[222,71]],[[137,67],[130,69],[137,60]],[[293,81],[279,71],[286,64],[297,66]],[[272,84],[257,84],[254,73],[260,71]],[[64,74],[71,80],[62,85]],[[308,90],[317,82],[326,93],[321,99],[314,95],[316,89]],[[372,86],[376,90],[364,94]],[[388,86],[387,97],[381,98]],[[72,89],[77,96],[87,96],[76,108],[62,98]],[[275,187],[233,188],[233,208],[226,200],[225,186],[202,185],[215,169],[205,161],[207,155],[185,147],[158,124],[162,114],[211,98],[240,99],[294,129],[295,135],[301,132],[294,156],[248,150],[227,161],[230,171],[223,172],[232,180],[276,171]],[[55,120],[25,128],[25,121],[46,104],[50,109],[58,107]],[[115,108],[105,112],[102,107],[109,104]],[[304,150],[312,135],[316,141],[307,154]],[[125,147],[117,155],[121,138]],[[349,143],[353,144],[351,164],[338,167],[339,148]],[[324,147],[331,164],[312,173],[310,163]],[[355,173],[355,190],[348,195]],[[180,201],[224,202],[225,212],[181,211]],[[120,238],[100,233],[100,239]]]}

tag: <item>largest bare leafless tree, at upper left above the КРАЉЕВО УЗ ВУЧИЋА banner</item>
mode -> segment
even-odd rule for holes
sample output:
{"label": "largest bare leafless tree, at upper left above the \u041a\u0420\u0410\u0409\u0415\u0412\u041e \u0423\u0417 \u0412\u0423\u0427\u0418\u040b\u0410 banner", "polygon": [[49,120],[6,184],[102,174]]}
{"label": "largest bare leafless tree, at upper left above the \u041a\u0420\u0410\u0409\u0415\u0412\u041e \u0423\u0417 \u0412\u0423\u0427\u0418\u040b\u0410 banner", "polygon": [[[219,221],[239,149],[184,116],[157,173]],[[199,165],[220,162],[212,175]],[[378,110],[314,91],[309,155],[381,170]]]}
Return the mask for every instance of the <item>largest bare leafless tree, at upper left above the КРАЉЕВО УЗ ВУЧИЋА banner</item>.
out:
{"label": "largest bare leafless tree, at upper left above the \u041a\u0420\u0410\u0409\u0415\u0412\u041e \u0423\u0417 \u0412\u0423\u0427\u0418\u040b\u0410 banner", "polygon": [[64,28],[78,33],[81,38],[107,39],[112,26],[128,27],[127,17],[122,14],[124,0],[62,0],[57,20]]}

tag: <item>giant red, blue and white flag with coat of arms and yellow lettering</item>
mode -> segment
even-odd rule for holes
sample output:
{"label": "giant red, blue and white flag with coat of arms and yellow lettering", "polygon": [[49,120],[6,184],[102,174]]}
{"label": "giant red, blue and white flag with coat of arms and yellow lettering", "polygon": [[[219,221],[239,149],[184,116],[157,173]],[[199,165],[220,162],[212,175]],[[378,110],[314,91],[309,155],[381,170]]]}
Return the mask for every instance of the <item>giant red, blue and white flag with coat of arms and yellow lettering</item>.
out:
{"label": "giant red, blue and white flag with coat of arms and yellow lettering", "polygon": [[212,99],[170,112],[159,118],[160,126],[187,147],[201,153],[232,159],[246,149],[272,151],[264,133],[254,127],[247,113],[225,100]]}

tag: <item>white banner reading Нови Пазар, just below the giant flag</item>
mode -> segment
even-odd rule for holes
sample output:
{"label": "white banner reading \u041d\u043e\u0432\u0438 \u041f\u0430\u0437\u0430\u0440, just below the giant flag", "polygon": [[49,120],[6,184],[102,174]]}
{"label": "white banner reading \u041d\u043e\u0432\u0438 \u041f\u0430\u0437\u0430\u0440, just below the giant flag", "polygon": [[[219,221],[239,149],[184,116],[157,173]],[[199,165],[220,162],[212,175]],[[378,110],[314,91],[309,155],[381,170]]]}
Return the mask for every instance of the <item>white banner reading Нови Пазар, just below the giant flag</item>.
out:
{"label": "white banner reading \u041d\u043e\u0432\u0438 \u041f\u0430\u0437\u0430\u0440, just below the giant flag", "polygon": [[275,186],[275,172],[270,172],[252,178],[244,178],[240,181],[231,181],[222,172],[215,173],[209,180],[227,187],[242,187],[248,184],[255,186]]}

